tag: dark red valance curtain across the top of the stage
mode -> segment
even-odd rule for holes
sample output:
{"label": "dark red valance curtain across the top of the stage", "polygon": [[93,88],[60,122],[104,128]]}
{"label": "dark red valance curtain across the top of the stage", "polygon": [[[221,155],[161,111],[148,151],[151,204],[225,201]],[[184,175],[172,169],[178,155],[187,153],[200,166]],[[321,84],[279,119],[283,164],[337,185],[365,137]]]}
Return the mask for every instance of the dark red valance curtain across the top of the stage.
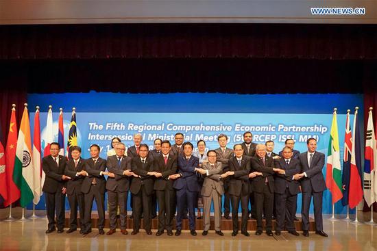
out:
{"label": "dark red valance curtain across the top of the stage", "polygon": [[377,59],[376,25],[5,25],[0,59]]}

